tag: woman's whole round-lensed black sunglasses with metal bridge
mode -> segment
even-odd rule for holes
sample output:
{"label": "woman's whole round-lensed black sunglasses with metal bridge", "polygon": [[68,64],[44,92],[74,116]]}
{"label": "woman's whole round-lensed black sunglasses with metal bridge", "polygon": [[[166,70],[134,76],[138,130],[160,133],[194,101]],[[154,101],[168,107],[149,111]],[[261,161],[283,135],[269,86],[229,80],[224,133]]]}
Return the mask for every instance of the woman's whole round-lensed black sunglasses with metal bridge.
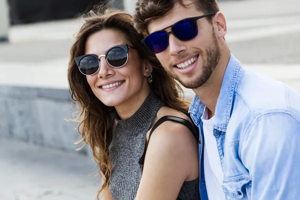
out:
{"label": "woman's whole round-lensed black sunglasses with metal bridge", "polygon": [[[121,44],[109,48],[105,55],[96,56],[94,54],[85,54],[75,58],[75,62],[81,73],[84,75],[93,75],[100,68],[100,57],[104,56],[106,62],[112,67],[121,67],[128,60],[128,49],[134,48],[128,44]],[[135,48],[134,48],[135,49]]]}

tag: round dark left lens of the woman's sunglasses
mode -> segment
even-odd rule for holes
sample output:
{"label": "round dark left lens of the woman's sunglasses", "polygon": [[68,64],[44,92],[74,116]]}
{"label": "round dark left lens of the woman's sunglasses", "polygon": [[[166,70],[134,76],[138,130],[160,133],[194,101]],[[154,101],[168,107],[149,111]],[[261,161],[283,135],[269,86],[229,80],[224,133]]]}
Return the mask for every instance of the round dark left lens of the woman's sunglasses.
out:
{"label": "round dark left lens of the woman's sunglasses", "polygon": [[79,62],[79,69],[85,75],[91,75],[99,69],[99,60],[97,57],[87,55]]}

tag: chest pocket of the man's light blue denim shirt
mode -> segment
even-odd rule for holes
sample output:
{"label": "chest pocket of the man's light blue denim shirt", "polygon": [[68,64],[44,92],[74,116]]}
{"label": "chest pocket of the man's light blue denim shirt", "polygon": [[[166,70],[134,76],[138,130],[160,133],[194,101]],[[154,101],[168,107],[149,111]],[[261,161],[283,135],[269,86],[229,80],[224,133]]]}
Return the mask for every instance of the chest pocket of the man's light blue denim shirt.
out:
{"label": "chest pocket of the man's light blue denim shirt", "polygon": [[[223,192],[227,200],[243,198],[246,194],[245,187],[251,184],[248,175],[238,175],[223,179]],[[244,187],[245,186],[245,187]]]}

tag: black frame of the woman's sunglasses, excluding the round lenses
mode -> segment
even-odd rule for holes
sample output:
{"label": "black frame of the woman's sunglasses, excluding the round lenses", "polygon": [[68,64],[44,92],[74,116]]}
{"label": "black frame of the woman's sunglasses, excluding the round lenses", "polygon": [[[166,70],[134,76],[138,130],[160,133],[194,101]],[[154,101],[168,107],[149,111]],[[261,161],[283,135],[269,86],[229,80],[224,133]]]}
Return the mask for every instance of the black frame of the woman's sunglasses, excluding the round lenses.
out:
{"label": "black frame of the woman's sunglasses, excluding the round lenses", "polygon": [[[122,48],[123,50],[126,51],[127,59],[126,59],[126,61],[125,61],[125,63],[124,63],[123,65],[121,65],[121,66],[112,66],[112,65],[107,61],[107,54],[108,54],[108,52],[109,52],[111,49],[113,49],[113,48]],[[108,50],[106,50],[105,55],[99,55],[99,56],[97,56],[97,55],[95,55],[95,54],[84,54],[84,55],[81,55],[81,56],[79,56],[79,57],[76,57],[76,58],[75,58],[75,62],[76,62],[76,65],[78,66],[79,71],[80,71],[83,75],[93,75],[93,74],[97,73],[98,70],[99,70],[99,68],[100,68],[100,57],[102,57],[102,56],[104,56],[104,58],[105,58],[107,64],[109,64],[111,67],[119,68],[119,67],[124,66],[124,65],[127,63],[127,61],[128,61],[128,49],[129,49],[129,48],[136,49],[135,47],[130,46],[130,45],[128,45],[128,44],[120,44],[120,45],[112,46],[111,48],[109,48]],[[99,61],[99,67],[98,67],[97,71],[94,72],[94,73],[92,73],[92,74],[85,74],[85,73],[83,73],[83,72],[80,70],[80,67],[79,67],[80,61],[81,61],[81,59],[83,59],[83,58],[86,57],[86,56],[93,56],[93,57],[96,57],[96,58],[98,59],[98,61]]]}

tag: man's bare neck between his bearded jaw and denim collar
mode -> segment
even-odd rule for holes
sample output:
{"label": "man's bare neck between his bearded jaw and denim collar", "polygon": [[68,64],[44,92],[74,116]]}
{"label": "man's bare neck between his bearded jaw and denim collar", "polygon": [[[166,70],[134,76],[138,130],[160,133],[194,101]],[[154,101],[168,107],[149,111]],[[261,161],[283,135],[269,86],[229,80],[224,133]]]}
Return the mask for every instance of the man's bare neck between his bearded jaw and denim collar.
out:
{"label": "man's bare neck between his bearded jaw and denim collar", "polygon": [[208,80],[201,86],[193,89],[198,98],[206,105],[208,119],[214,116],[217,98],[220,93],[224,73],[230,58],[230,52],[222,52],[222,56]]}

